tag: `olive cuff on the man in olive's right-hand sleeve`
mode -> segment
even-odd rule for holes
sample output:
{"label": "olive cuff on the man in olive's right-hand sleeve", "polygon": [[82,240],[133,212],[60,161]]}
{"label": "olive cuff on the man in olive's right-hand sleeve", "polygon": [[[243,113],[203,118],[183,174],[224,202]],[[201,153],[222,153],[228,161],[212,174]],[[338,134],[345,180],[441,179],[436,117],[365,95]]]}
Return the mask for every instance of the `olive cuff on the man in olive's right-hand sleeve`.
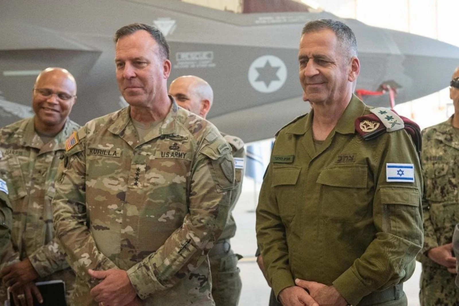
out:
{"label": "olive cuff on the man in olive's right-hand sleeve", "polygon": [[351,305],[357,305],[364,296],[372,292],[358,279],[351,268],[336,278],[333,286]]}

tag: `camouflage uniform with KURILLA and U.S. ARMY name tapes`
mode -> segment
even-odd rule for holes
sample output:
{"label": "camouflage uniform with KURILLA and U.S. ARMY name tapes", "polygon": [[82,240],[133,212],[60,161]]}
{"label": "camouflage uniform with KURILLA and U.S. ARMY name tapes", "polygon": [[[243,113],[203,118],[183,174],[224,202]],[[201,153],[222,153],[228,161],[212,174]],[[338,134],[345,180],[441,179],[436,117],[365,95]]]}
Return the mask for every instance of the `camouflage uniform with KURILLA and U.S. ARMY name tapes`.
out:
{"label": "camouflage uniform with KURILLA and U.S. ARMY name tapes", "polygon": [[143,139],[128,107],[91,120],[69,143],[53,204],[76,305],[97,305],[89,268],[126,270],[145,305],[214,305],[207,253],[235,176],[218,130],[173,100]]}

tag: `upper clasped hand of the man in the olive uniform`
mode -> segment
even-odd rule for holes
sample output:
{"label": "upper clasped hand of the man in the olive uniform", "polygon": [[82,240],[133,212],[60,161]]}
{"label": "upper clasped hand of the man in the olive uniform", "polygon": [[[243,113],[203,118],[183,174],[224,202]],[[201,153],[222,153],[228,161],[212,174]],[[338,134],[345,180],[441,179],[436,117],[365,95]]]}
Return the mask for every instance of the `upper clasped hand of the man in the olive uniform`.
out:
{"label": "upper clasped hand of the man in the olive uniform", "polygon": [[346,306],[347,301],[333,286],[327,286],[323,283],[309,282],[302,279],[295,279],[297,286],[300,286],[309,291],[309,294],[313,297],[320,306]]}

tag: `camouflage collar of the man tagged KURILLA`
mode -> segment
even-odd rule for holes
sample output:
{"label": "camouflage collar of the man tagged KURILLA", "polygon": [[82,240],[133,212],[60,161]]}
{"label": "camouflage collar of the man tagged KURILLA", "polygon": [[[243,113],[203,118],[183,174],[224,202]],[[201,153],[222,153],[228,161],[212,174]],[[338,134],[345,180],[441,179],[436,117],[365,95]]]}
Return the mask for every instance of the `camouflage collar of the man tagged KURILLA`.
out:
{"label": "camouflage collar of the man tagged KURILLA", "polygon": [[162,123],[156,125],[148,134],[145,136],[144,139],[139,139],[137,135],[137,131],[135,130],[134,124],[131,120],[131,107],[123,108],[120,111],[120,114],[117,119],[110,125],[108,130],[113,134],[116,134],[123,138],[131,147],[137,147],[145,142],[149,142],[150,140],[157,138],[161,135],[166,134],[174,134],[177,128],[177,116],[179,107],[175,102],[172,96],[169,96],[172,101],[171,107],[169,109],[168,114],[162,120]]}

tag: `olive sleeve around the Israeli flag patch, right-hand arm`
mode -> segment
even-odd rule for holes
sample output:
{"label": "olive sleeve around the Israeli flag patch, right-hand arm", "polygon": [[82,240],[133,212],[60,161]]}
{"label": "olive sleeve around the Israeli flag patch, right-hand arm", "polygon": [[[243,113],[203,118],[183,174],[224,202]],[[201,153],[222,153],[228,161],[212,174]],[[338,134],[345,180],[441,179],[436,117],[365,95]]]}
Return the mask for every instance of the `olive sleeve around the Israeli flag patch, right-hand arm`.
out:
{"label": "olive sleeve around the Israeli flag patch, right-hand arm", "polygon": [[[405,130],[385,136],[381,159],[371,166],[375,176],[375,239],[364,254],[333,282],[352,305],[357,305],[373,291],[410,278],[414,272],[414,258],[422,247],[423,180],[419,157]],[[388,182],[387,163],[413,164],[414,182]]]}

